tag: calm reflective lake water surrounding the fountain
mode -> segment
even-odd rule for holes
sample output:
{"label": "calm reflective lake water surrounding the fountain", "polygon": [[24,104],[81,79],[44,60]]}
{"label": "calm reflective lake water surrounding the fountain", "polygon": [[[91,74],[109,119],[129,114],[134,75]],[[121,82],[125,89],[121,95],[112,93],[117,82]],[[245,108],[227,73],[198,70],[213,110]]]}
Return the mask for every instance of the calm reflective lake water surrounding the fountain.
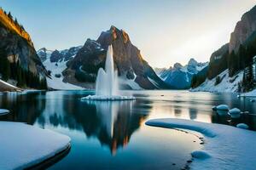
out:
{"label": "calm reflective lake water surrounding the fountain", "polygon": [[[203,145],[193,133],[149,127],[148,119],[175,117],[236,126],[246,122],[256,130],[256,104],[235,94],[188,91],[123,91],[134,101],[82,102],[92,91],[0,94],[0,108],[11,114],[2,121],[27,122],[67,134],[72,147],[49,169],[181,169],[192,150]],[[249,111],[238,120],[218,116],[213,105]],[[255,116],[253,115],[255,114]],[[175,163],[175,165],[173,165]]]}

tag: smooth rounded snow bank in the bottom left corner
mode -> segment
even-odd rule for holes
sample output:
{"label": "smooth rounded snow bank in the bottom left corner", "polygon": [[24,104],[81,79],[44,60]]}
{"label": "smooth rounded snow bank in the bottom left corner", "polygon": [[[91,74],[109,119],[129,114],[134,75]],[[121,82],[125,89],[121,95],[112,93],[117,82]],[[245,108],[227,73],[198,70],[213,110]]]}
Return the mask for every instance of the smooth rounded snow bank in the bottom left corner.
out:
{"label": "smooth rounded snow bank in the bottom left corner", "polygon": [[0,122],[0,169],[24,169],[67,149],[69,137],[21,122]]}

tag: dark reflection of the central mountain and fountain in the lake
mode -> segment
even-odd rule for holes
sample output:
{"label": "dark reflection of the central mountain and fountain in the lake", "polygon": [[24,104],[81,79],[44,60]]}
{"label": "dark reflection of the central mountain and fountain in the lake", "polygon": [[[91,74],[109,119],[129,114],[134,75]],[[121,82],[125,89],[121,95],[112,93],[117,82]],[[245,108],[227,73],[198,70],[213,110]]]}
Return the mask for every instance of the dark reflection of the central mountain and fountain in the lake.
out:
{"label": "dark reflection of the central mountain and fountain in the lake", "polygon": [[134,112],[135,100],[80,102],[67,96],[65,100],[51,100],[50,95],[46,94],[45,110],[35,124],[84,132],[87,138],[96,137],[102,146],[107,145],[112,155],[129,143],[132,133],[148,116]]}

